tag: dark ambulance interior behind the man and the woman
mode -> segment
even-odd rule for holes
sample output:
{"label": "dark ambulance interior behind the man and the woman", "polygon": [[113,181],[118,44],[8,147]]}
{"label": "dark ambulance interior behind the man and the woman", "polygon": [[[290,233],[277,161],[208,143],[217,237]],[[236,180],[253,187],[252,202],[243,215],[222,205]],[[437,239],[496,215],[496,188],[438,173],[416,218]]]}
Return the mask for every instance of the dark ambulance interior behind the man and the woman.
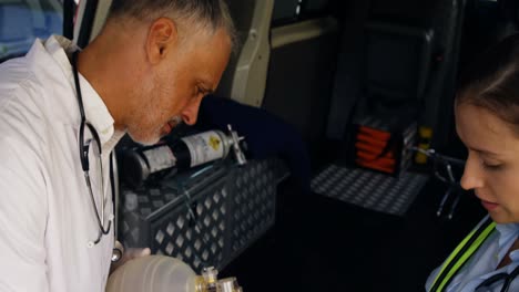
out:
{"label": "dark ambulance interior behind the man and the woman", "polygon": [[[118,237],[196,272],[214,265],[246,292],[424,290],[485,215],[456,187],[467,155],[454,128],[456,80],[464,64],[517,30],[519,3],[227,2],[240,42],[215,95],[233,102],[225,107],[232,117],[210,105],[201,115],[232,124],[256,157],[236,166],[231,150],[139,188],[121,179]],[[0,61],[51,33],[84,46],[109,7],[0,1]],[[384,143],[362,148],[363,131],[374,129]],[[119,147],[118,155],[136,146]],[[374,147],[390,163],[359,154]]]}

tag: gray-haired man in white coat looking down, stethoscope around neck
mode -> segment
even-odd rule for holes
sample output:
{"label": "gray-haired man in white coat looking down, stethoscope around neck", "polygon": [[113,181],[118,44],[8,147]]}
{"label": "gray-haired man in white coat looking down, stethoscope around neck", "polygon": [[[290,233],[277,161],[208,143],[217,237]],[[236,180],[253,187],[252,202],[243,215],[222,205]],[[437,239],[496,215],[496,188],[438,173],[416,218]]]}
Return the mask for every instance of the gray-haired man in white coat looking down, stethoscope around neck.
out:
{"label": "gray-haired man in white coat looking down, stethoscope around neck", "polygon": [[84,50],[53,35],[0,65],[0,291],[104,291],[111,152],[194,124],[234,35],[223,0],[114,0]]}

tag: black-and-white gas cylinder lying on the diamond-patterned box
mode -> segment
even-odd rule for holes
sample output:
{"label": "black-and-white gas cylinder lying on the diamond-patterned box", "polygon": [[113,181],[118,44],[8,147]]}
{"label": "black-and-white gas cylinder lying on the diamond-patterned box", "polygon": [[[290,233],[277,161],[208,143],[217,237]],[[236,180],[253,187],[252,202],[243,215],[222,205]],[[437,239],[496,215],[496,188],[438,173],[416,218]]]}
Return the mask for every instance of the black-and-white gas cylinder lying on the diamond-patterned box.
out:
{"label": "black-and-white gas cylinder lying on the diamond-patterned box", "polygon": [[152,175],[170,171],[171,168],[187,169],[216,159],[225,158],[234,148],[238,164],[245,156],[237,145],[242,138],[230,128],[231,135],[222,131],[207,131],[175,142],[135,148],[123,156],[123,180],[139,186]]}

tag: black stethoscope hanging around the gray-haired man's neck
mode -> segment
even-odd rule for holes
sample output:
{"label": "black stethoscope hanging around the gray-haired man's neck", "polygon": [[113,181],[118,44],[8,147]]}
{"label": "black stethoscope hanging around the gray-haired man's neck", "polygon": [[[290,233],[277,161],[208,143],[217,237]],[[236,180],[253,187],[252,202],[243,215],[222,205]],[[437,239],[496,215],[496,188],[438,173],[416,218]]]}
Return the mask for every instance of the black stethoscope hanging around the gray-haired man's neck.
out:
{"label": "black stethoscope hanging around the gray-haired man's neck", "polygon": [[[78,72],[78,51],[75,51],[72,54],[72,72],[74,75],[74,83],[75,83],[75,92],[77,92],[77,97],[78,97],[78,104],[79,104],[79,109],[81,114],[81,125],[80,125],[80,131],[79,131],[79,152],[80,152],[80,159],[81,159],[81,168],[83,169],[84,174],[84,180],[86,182],[86,187],[89,189],[90,194],[90,199],[92,201],[92,207],[95,212],[95,220],[98,222],[99,227],[99,233],[94,240],[90,240],[86,244],[89,248],[93,248],[95,244],[98,244],[103,236],[108,236],[110,233],[111,227],[112,227],[112,221],[114,220],[113,215],[109,218],[108,220],[108,226],[104,226],[104,207],[106,204],[106,196],[104,192],[104,178],[103,178],[103,163],[102,163],[102,149],[101,149],[101,139],[99,138],[98,131],[86,121],[85,114],[84,114],[84,107],[83,107],[83,97],[81,95],[81,86],[80,86],[80,81],[79,81],[79,72]],[[90,139],[84,139],[84,131],[88,128],[90,133],[92,134],[92,138]],[[90,180],[90,163],[89,163],[89,150],[90,147],[93,144],[95,144],[98,152],[99,152],[99,164],[101,167],[101,194],[102,199],[101,199],[101,215],[99,213],[99,208],[98,204],[95,202],[93,190],[92,190],[92,184]],[[112,196],[115,196],[115,189],[114,189],[114,177],[113,177],[113,153],[110,154],[110,180],[111,180],[111,188],[112,188]],[[115,248],[113,250],[112,254],[112,261],[118,261],[122,257],[122,249],[121,248]]]}

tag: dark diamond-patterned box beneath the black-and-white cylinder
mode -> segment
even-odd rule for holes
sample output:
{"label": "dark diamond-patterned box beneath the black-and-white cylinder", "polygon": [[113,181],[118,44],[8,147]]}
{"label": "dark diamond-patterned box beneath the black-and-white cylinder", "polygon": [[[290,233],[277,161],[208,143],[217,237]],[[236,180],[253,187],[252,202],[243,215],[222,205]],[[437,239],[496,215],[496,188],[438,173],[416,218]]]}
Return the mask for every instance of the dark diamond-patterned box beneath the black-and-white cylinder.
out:
{"label": "dark diamond-patterned box beneath the black-and-white cylinder", "polygon": [[160,186],[122,186],[120,238],[125,247],[176,257],[196,272],[206,265],[222,269],[274,223],[276,186],[286,174],[282,167],[279,160],[220,165],[192,180],[186,174]]}

